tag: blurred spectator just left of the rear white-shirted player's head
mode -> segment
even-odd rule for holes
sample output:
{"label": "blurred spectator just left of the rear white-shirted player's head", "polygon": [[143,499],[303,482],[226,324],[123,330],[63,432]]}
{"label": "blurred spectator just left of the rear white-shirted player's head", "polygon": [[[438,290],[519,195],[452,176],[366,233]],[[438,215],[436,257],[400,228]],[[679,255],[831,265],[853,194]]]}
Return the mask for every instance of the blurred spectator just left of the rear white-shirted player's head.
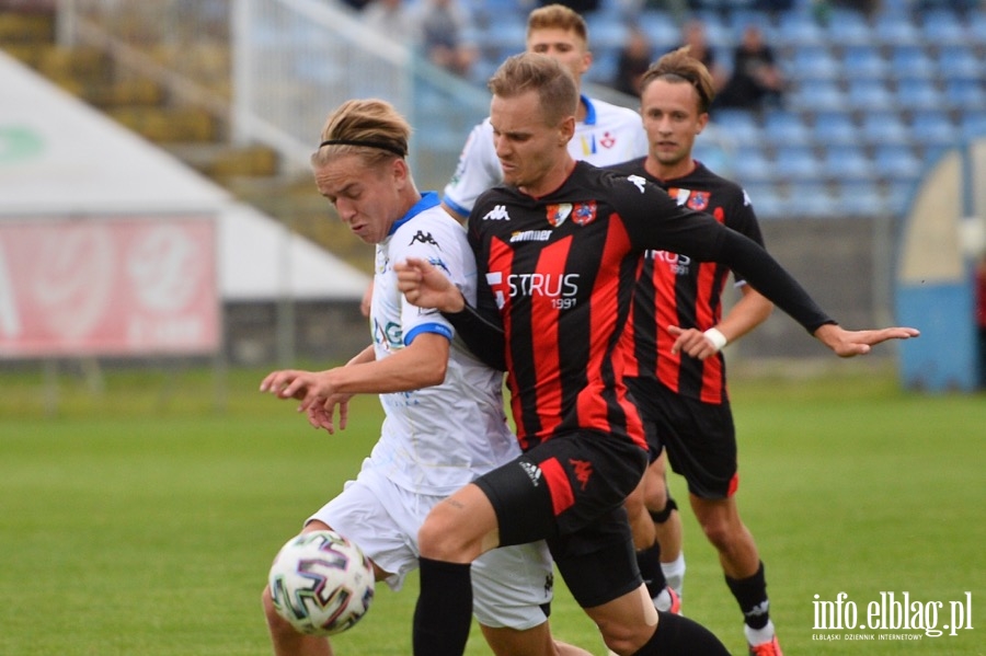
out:
{"label": "blurred spectator just left of the rear white-shirted player's head", "polygon": [[417,16],[421,46],[435,66],[468,76],[479,57],[472,16],[457,0],[422,0]]}

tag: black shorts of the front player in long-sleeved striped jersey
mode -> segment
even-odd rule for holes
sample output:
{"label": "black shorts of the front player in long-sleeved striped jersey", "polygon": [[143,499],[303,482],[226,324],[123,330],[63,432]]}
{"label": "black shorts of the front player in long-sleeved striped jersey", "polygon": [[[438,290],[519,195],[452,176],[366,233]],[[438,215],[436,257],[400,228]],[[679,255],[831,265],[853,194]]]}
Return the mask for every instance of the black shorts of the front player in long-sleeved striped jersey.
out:
{"label": "black shorts of the front player in long-sleeved striped jersey", "polygon": [[500,544],[546,539],[583,608],[640,587],[623,499],[646,468],[637,445],[596,431],[552,437],[480,476],[496,511]]}

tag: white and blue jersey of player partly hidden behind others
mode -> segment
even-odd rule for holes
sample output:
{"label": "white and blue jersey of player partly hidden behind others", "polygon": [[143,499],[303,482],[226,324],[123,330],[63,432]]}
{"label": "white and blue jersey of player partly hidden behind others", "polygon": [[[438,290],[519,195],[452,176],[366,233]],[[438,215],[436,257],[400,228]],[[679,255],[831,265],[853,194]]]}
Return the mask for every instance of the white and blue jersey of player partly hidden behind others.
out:
{"label": "white and blue jersey of player partly hidden behind others", "polygon": [[[575,123],[569,154],[576,161],[610,166],[647,154],[647,136],[640,114],[600,100],[582,96],[584,120]],[[493,146],[490,118],[472,128],[459,154],[452,179],[445,185],[445,204],[468,217],[480,194],[503,182]]]}

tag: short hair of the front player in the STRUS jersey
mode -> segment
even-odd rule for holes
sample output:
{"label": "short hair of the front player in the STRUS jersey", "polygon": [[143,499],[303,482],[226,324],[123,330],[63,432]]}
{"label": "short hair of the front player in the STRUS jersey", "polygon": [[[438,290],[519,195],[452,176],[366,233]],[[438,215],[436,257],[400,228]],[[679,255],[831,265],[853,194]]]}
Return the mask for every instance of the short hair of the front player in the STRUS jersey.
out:
{"label": "short hair of the front player in the STRUS jersey", "polygon": [[507,57],[490,78],[488,87],[500,97],[536,91],[541,114],[551,126],[574,116],[578,107],[578,89],[572,73],[547,55],[520,53]]}

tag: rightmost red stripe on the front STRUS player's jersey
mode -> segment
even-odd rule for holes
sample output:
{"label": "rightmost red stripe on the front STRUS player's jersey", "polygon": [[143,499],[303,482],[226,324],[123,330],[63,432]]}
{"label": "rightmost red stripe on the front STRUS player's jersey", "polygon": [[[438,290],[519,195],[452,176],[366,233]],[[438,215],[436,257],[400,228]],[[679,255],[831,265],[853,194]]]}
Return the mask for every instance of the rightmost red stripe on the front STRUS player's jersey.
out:
{"label": "rightmost red stripe on the front STRUS player's jersey", "polygon": [[[578,393],[578,425],[591,426],[603,431],[612,430],[610,422],[614,408],[611,394],[605,394],[607,389],[616,392],[616,403],[623,415],[627,431],[630,437],[642,448],[646,449],[646,439],[643,433],[643,423],[638,414],[637,406],[627,399],[627,388],[623,384],[626,353],[620,343],[626,325],[618,325],[622,320],[619,311],[620,297],[620,265],[623,255],[630,250],[630,237],[623,228],[619,217],[611,217],[607,223],[606,241],[603,245],[603,254],[599,258],[599,273],[596,275],[596,284],[593,287],[589,317],[589,353],[586,373],[586,387]],[[608,398],[607,398],[608,396]]]}

